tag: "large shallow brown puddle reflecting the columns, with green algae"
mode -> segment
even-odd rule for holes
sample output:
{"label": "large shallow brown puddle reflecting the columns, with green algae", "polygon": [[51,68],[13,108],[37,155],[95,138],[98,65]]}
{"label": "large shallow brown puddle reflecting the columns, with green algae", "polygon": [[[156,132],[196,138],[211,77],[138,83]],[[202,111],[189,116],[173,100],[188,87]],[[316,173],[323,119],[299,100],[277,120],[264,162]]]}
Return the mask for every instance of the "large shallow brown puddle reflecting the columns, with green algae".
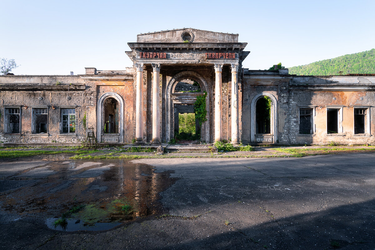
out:
{"label": "large shallow brown puddle reflecting the columns, with green algae", "polygon": [[[155,173],[150,165],[127,160],[51,162],[49,166],[54,174],[27,188],[3,192],[0,208],[22,217],[39,213],[48,218],[43,223],[49,228],[64,230],[54,227],[57,217],[85,205],[66,216],[65,230],[108,230],[139,217],[165,213],[159,193],[178,180],[169,178],[171,171]],[[80,223],[75,224],[77,220]]]}

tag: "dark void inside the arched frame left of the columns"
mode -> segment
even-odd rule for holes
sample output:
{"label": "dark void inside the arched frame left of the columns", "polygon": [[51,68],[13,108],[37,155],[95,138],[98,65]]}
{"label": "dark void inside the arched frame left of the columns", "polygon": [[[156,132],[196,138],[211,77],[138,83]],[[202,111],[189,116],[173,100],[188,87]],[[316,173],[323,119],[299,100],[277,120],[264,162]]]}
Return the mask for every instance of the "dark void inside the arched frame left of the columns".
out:
{"label": "dark void inside the arched frame left of the columns", "polygon": [[118,101],[110,97],[104,101],[104,134],[118,134]]}

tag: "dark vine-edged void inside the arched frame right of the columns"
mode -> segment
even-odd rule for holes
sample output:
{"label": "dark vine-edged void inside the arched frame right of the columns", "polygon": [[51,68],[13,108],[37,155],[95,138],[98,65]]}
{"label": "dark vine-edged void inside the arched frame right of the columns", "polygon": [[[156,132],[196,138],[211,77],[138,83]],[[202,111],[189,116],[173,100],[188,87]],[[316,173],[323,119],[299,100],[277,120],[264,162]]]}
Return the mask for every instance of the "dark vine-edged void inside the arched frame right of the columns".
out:
{"label": "dark vine-edged void inside the arched frame right of the columns", "polygon": [[271,98],[264,96],[261,97],[255,107],[256,116],[256,134],[270,134],[271,133]]}

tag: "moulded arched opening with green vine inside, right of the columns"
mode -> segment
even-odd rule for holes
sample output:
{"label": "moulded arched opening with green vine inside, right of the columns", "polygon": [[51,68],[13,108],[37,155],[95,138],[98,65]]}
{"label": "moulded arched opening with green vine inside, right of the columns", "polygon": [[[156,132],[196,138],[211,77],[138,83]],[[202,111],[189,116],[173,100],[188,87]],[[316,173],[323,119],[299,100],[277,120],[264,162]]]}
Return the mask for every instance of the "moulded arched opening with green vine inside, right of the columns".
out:
{"label": "moulded arched opening with green vine inside, right of the columns", "polygon": [[267,92],[255,95],[251,102],[251,141],[277,141],[277,100]]}

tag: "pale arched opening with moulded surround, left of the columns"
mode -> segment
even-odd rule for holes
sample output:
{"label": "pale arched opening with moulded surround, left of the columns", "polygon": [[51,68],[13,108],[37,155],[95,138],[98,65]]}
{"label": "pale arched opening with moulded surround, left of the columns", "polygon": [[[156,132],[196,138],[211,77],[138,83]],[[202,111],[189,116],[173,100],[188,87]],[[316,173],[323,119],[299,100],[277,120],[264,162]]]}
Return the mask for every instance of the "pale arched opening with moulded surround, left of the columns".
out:
{"label": "pale arched opening with moulded surround, left of the columns", "polygon": [[103,94],[98,101],[98,141],[124,142],[124,102],[114,92]]}

